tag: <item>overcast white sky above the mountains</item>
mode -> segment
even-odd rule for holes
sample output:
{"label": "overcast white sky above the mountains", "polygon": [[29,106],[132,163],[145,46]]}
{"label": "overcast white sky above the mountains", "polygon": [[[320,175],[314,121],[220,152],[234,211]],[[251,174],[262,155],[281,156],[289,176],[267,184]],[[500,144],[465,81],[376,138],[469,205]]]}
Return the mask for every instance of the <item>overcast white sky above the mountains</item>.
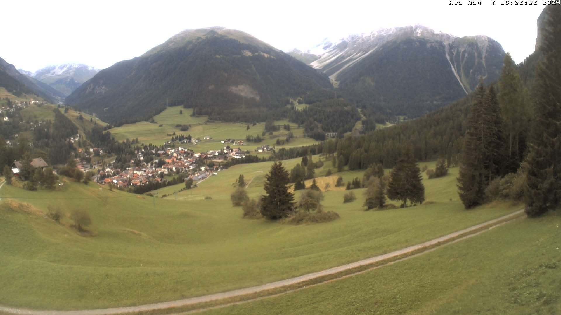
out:
{"label": "overcast white sky above the mountains", "polygon": [[[492,3],[495,2],[493,5]],[[3,1],[0,57],[16,68],[85,63],[107,68],[185,29],[225,26],[282,50],[307,49],[380,28],[424,25],[455,36],[487,35],[514,61],[534,52],[544,6],[451,6],[448,0],[401,1]]]}

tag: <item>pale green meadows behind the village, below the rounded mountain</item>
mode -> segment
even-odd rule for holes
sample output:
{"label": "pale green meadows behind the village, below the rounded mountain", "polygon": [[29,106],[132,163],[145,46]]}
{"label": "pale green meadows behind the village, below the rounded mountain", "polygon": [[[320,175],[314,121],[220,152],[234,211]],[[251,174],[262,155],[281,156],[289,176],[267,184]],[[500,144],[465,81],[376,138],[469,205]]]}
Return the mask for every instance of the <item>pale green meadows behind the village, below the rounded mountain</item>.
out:
{"label": "pale green meadows behind the village, below the rounded mountain", "polygon": [[[183,110],[183,114],[179,114],[179,110]],[[148,122],[137,122],[134,124],[125,124],[121,127],[116,127],[110,129],[111,134],[116,138],[116,140],[122,141],[126,138],[139,138],[141,143],[152,143],[155,145],[162,145],[164,142],[169,141],[172,137],[171,135],[175,132],[176,135],[191,135],[194,138],[201,138],[201,142],[189,145],[182,145],[185,147],[190,147],[196,152],[206,152],[208,150],[219,150],[224,147],[223,143],[220,141],[227,138],[234,138],[236,140],[246,141],[246,136],[261,136],[265,128],[265,123],[257,123],[255,126],[251,126],[247,130],[247,124],[245,123],[226,123],[226,122],[214,122],[207,123],[206,117],[191,117],[192,109],[185,109],[181,107],[170,107],[165,109],[162,113],[154,117],[155,123]],[[286,124],[288,121],[277,121],[275,124]],[[159,125],[162,124],[162,127]],[[177,124],[190,124],[191,128],[188,131],[180,131],[180,128],[176,128]],[[240,146],[240,149],[254,151],[256,147],[268,144],[270,146],[275,145],[277,148],[280,147],[295,147],[304,146],[318,143],[312,138],[303,137],[304,128],[297,128],[296,124],[291,124],[291,131],[294,134],[290,142],[285,145],[275,145],[277,138],[283,140],[288,134],[287,131],[280,130],[275,131],[272,136],[265,135],[263,142],[254,143],[249,142],[246,145]],[[169,136],[168,136],[169,135]],[[209,136],[211,140],[202,140],[203,137]]]}

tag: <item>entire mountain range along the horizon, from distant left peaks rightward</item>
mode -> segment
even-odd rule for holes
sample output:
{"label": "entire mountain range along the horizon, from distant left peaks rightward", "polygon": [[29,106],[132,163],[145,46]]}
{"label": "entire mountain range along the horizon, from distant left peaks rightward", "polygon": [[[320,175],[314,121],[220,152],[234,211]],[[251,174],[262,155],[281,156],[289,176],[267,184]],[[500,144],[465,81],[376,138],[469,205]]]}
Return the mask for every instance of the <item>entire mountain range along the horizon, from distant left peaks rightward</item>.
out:
{"label": "entire mountain range along the horizon, from distant left peaks rightward", "polygon": [[112,123],[148,119],[167,105],[234,119],[322,89],[360,108],[418,117],[469,94],[480,79],[495,81],[504,55],[487,36],[459,38],[420,25],[288,53],[242,31],[208,27],[99,72],[65,64],[17,74]]}

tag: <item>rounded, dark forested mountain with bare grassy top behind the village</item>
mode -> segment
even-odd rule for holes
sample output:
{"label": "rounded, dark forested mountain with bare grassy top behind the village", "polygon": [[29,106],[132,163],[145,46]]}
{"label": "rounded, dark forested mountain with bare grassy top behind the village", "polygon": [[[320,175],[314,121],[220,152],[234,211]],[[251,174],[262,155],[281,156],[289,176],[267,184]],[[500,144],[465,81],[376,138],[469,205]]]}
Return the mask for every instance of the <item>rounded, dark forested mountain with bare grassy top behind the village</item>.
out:
{"label": "rounded, dark forested mountain with bare grassy top behind the village", "polygon": [[182,31],[100,71],[66,101],[117,122],[146,118],[170,99],[209,115],[251,113],[322,87],[330,87],[327,77],[271,45],[242,31],[207,27]]}

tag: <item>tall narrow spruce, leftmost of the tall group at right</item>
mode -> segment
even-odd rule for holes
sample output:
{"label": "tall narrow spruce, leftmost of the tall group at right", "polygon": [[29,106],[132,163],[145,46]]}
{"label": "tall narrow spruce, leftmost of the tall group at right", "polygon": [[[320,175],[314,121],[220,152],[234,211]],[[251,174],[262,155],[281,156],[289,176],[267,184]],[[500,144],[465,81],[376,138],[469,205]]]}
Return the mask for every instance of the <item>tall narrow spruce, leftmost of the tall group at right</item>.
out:
{"label": "tall narrow spruce, leftmost of the tall group at right", "polygon": [[459,166],[458,193],[466,209],[480,205],[485,198],[485,168],[482,152],[484,103],[485,87],[480,83],[473,95]]}

